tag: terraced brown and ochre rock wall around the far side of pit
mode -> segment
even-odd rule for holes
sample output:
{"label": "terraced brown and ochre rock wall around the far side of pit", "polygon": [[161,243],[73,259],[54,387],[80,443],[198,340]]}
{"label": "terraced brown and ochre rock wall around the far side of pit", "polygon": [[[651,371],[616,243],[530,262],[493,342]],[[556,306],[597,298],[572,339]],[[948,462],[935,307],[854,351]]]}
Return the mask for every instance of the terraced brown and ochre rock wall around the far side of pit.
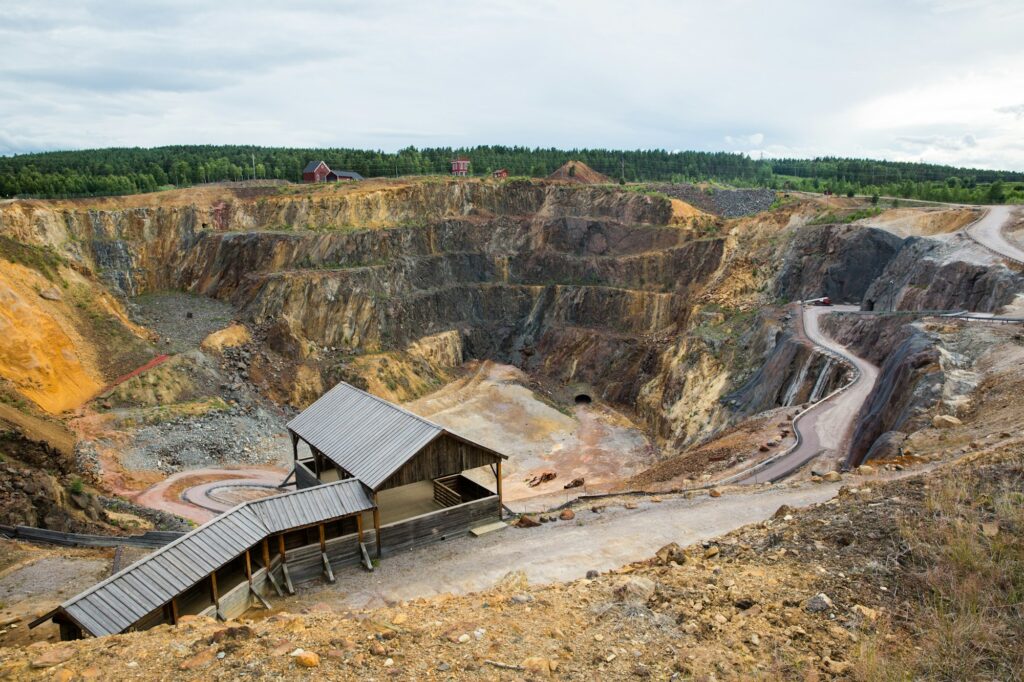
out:
{"label": "terraced brown and ochre rock wall around the far side of pit", "polygon": [[428,179],[14,202],[0,232],[121,295],[230,304],[255,335],[246,377],[279,401],[339,379],[410,399],[489,358],[635,410],[673,453],[842,382],[786,300],[991,309],[1021,289],[948,246],[815,214],[795,200],[677,224],[659,194]]}

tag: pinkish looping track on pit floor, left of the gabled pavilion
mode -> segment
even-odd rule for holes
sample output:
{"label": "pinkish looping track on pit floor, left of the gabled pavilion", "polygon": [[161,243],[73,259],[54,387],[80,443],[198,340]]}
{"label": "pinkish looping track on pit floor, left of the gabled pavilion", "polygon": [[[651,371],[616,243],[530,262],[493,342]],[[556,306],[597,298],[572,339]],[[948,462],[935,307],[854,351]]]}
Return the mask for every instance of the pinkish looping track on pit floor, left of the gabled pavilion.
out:
{"label": "pinkish looping track on pit floor, left of the gabled pavilion", "polygon": [[190,469],[151,485],[134,502],[206,523],[239,502],[284,492],[278,485],[288,474],[270,466]]}

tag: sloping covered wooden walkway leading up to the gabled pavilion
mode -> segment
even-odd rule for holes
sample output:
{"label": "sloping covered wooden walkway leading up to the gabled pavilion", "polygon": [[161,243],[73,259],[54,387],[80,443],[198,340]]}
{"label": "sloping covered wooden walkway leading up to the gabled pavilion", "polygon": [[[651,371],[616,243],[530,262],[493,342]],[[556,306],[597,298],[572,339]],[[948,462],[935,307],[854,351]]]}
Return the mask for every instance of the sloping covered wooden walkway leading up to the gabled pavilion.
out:
{"label": "sloping covered wooden walkway leading up to the gabled pavilion", "polygon": [[334,581],[332,560],[365,556],[362,513],[371,510],[357,480],[243,503],[29,627],[53,620],[67,640],[175,624],[185,614],[237,617],[251,599],[266,604],[268,586],[278,594],[294,593],[293,578],[308,578],[310,567],[313,577],[323,571]]}

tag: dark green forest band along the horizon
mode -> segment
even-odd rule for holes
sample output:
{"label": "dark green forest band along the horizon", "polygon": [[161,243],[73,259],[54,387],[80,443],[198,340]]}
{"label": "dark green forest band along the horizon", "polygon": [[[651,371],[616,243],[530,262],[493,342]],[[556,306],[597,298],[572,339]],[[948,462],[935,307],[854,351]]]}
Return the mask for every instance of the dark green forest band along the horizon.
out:
{"label": "dark green forest band along the horizon", "polygon": [[544,177],[570,159],[621,181],[715,181],[964,203],[1024,203],[1024,173],[868,159],[756,160],[725,152],[556,150],[524,146],[345,148],[183,145],[0,157],[0,197],[89,197],[243,179],[299,181],[313,160],[367,177],[446,174],[465,156],[473,175],[505,168]]}

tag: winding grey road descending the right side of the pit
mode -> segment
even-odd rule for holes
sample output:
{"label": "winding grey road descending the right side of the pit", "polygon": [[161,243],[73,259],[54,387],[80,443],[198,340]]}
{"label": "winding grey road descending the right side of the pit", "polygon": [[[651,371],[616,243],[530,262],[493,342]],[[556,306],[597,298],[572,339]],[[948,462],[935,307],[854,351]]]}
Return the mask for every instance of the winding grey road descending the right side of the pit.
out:
{"label": "winding grey road descending the right side of the pit", "polygon": [[859,309],[856,305],[803,307],[804,335],[808,340],[842,355],[857,368],[859,374],[853,385],[845,391],[822,400],[799,417],[795,428],[800,432],[801,441],[796,449],[771,464],[757,469],[752,475],[739,480],[740,483],[778,480],[825,453],[838,455],[839,459],[845,456],[841,451],[850,435],[860,407],[874,387],[879,369],[826,336],[818,322],[821,315],[831,312],[855,312]]}

